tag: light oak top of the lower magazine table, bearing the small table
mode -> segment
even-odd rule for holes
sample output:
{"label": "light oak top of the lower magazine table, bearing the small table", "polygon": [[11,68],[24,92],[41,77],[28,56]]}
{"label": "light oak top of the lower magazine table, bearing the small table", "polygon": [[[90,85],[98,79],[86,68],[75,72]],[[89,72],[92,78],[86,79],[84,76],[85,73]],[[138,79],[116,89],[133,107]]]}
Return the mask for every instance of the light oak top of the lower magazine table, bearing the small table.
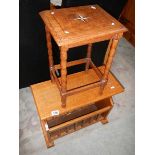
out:
{"label": "light oak top of the lower magazine table, bearing the small table", "polygon": [[[99,67],[103,72],[103,68]],[[92,69],[87,73],[85,71],[78,72],[67,76],[67,87],[75,88],[98,80],[97,75]],[[61,107],[61,97],[57,85],[50,80],[31,85],[31,90],[37,107],[37,111],[41,120],[51,117],[51,112],[59,110],[59,114],[71,112],[77,108],[81,108],[94,102],[111,97],[124,91],[124,87],[110,73],[107,85],[103,90],[103,94],[99,94],[99,87],[92,88],[80,93],[67,97],[66,108]]]}

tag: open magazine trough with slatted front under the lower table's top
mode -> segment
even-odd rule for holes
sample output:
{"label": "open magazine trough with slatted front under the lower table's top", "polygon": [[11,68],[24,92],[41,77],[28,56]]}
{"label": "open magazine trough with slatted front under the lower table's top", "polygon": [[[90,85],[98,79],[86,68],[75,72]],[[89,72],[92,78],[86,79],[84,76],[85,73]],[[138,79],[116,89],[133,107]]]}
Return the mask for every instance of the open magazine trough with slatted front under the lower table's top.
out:
{"label": "open magazine trough with slatted front under the lower table's top", "polygon": [[[92,105],[80,108],[72,113],[48,120],[49,130],[48,137],[51,144],[52,141],[81,128],[89,126],[93,123],[101,121],[103,124],[107,123],[107,115],[113,107],[112,98],[107,98],[96,102]],[[47,144],[47,147],[50,147]]]}

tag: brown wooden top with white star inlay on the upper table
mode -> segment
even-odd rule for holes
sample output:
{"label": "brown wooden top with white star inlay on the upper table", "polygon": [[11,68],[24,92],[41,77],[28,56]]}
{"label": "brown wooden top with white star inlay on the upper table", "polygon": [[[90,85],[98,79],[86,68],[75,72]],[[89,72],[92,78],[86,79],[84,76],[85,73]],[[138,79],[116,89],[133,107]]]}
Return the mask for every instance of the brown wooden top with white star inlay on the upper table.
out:
{"label": "brown wooden top with white star inlay on the upper table", "polygon": [[127,31],[98,5],[46,10],[39,14],[58,46],[80,46]]}

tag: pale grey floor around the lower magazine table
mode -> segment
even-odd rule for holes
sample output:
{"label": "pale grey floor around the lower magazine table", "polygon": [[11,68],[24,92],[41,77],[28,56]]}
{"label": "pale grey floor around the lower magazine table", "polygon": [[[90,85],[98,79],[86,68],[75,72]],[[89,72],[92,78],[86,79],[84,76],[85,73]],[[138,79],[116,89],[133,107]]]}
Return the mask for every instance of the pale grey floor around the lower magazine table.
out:
{"label": "pale grey floor around the lower magazine table", "polygon": [[135,51],[121,39],[112,71],[125,87],[114,96],[109,123],[100,122],[55,140],[47,149],[30,88],[19,91],[20,155],[134,155],[135,154]]}

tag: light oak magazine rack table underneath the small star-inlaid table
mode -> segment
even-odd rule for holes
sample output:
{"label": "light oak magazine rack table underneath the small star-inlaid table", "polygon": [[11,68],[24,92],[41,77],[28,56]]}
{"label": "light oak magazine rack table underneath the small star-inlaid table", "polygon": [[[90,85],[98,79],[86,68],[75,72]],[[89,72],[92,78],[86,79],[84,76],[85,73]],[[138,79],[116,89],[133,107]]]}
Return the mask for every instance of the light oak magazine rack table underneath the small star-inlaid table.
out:
{"label": "light oak magazine rack table underneath the small star-inlaid table", "polygon": [[[91,70],[88,70],[88,74],[90,74],[90,71]],[[81,72],[81,74],[84,72],[85,71]],[[72,80],[74,81],[74,78],[77,77],[76,80],[78,80],[79,76],[73,75],[70,75],[70,78],[72,78]],[[90,76],[91,75],[93,74],[90,74]],[[115,88],[111,89],[111,86],[114,86]],[[91,95],[88,95],[87,91],[85,91],[85,95],[83,94],[84,92],[81,92],[79,94],[81,94],[85,98],[85,100],[78,100],[77,102],[75,102],[76,100],[73,99],[73,96],[76,99],[77,94],[73,95],[71,96],[72,102],[70,102],[70,104],[67,104],[69,106],[66,108],[62,108],[60,104],[59,106],[57,104],[61,101],[61,99],[60,95],[58,95],[59,93],[56,84],[51,83],[50,81],[45,81],[32,85],[31,89],[40,117],[41,126],[47,147],[54,146],[55,139],[75,132],[93,123],[99,121],[103,124],[108,123],[107,117],[114,105],[111,96],[124,91],[124,88],[119,83],[119,81],[112,74],[110,74],[109,83],[104,89],[104,94],[106,95],[103,95],[102,98],[97,98],[97,100],[95,99],[96,94],[94,93],[96,92],[96,90],[92,91]],[[54,94],[52,94],[50,90]],[[91,98],[92,95],[94,95],[93,98]],[[91,98],[91,100],[89,101],[89,103],[84,102],[87,101],[88,96]],[[51,116],[52,110],[59,110],[59,115]],[[49,111],[48,114],[47,111]],[[45,127],[45,124],[48,125],[48,129]]]}

